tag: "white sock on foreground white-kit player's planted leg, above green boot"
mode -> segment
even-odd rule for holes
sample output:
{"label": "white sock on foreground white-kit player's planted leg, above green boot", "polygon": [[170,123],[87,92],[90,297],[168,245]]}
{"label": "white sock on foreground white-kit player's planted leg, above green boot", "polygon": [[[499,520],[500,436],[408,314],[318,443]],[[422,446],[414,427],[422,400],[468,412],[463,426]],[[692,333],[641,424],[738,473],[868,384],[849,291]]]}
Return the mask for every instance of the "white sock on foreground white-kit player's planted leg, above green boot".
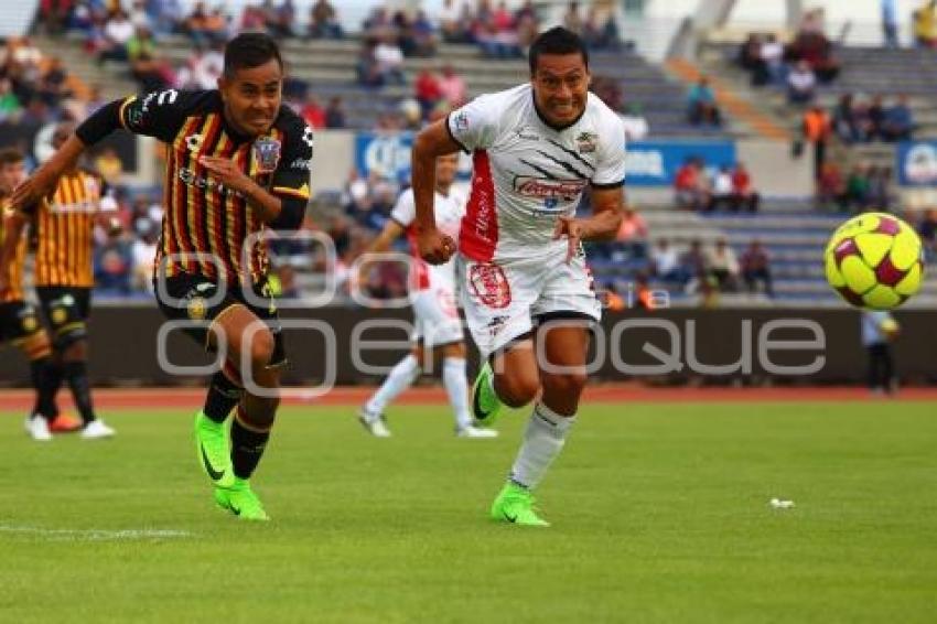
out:
{"label": "white sock on foreground white-kit player's planted leg, above green boot", "polygon": [[510,480],[530,489],[537,487],[563,449],[573,422],[575,416],[563,417],[543,404],[537,404],[527,422],[520,452],[514,460]]}

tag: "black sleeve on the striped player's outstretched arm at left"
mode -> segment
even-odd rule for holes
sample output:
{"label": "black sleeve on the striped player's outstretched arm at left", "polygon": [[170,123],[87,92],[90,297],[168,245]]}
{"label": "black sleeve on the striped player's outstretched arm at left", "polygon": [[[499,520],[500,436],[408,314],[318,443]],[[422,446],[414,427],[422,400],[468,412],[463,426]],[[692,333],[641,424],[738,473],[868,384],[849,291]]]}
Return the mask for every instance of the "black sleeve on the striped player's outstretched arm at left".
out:
{"label": "black sleeve on the striped player's outstretched arm at left", "polygon": [[186,117],[205,104],[209,94],[164,89],[118,99],[88,117],[76,133],[86,146],[97,143],[118,128],[170,142]]}

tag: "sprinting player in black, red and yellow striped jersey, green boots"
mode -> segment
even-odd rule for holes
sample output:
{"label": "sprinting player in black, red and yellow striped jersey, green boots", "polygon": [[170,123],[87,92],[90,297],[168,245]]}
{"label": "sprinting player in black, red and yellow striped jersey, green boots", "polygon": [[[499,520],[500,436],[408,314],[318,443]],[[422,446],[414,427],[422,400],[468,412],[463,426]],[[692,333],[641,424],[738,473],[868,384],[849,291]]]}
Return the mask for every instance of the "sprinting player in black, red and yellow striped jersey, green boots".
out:
{"label": "sprinting player in black, red and yellow striped jersey, green boots", "polygon": [[[215,502],[241,519],[268,515],[249,478],[270,438],[287,357],[263,234],[294,230],[309,201],[312,129],[282,105],[283,61],[268,35],[225,47],[218,88],[168,89],[104,106],[23,186],[44,196],[85,148],[125,128],[168,147],[157,302],[184,332],[226,355],[195,417]],[[237,407],[230,426],[225,421]]]}

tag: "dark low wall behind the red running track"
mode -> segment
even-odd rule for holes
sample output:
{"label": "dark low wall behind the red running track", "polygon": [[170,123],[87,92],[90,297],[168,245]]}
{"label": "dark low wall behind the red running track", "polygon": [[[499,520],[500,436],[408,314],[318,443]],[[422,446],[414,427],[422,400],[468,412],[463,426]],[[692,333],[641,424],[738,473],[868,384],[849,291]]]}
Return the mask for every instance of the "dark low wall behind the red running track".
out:
{"label": "dark low wall behind the red running track", "polygon": [[[327,377],[326,362],[334,364],[338,385],[374,384],[381,370],[362,370],[358,358],[373,367],[392,366],[407,349],[406,310],[324,308],[286,310],[283,318],[303,320],[305,330],[287,330],[291,367],[290,385],[315,386]],[[905,381],[937,383],[937,333],[934,315],[926,311],[900,311],[902,335],[895,343],[897,369]],[[353,344],[355,327],[367,321],[395,320],[396,327],[371,327],[359,332],[367,341],[396,341],[376,348]],[[163,318],[151,305],[103,306],[94,310],[90,323],[90,374],[95,385],[201,385],[204,375],[174,376],[161,369],[157,336]],[[777,326],[786,323],[788,326]],[[794,326],[790,326],[794,325]],[[334,341],[323,338],[334,332]],[[596,380],[644,378],[661,384],[725,384],[771,379],[775,384],[806,385],[861,383],[865,353],[859,343],[859,314],[850,310],[667,310],[653,314],[608,313],[600,331],[601,346],[593,355],[601,365],[592,373]],[[371,347],[375,343],[371,342]],[[331,352],[330,352],[331,349]],[[597,353],[596,353],[597,352]],[[326,355],[331,353],[331,355]],[[171,333],[166,342],[169,359],[176,365],[204,365],[211,358],[191,340]],[[473,363],[476,362],[473,353]],[[626,368],[629,366],[631,368]],[[713,374],[707,366],[722,366]],[[812,367],[815,372],[793,374],[777,367]],[[635,367],[645,367],[636,370]],[[656,367],[656,372],[653,368]],[[0,385],[25,386],[28,366],[9,345],[0,351]]]}

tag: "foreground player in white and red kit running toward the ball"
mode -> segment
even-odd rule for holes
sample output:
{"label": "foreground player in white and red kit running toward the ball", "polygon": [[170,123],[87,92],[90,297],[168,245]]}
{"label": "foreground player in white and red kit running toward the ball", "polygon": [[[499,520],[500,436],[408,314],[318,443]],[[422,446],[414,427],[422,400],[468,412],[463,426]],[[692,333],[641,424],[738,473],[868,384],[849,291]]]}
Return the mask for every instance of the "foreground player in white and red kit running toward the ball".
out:
{"label": "foreground player in white and red kit running toward the ball", "polygon": [[[586,381],[590,325],[601,305],[582,240],[611,240],[624,208],[625,131],[589,93],[589,55],[552,29],[529,52],[530,82],[484,95],[420,132],[413,146],[418,244],[428,262],[455,252],[433,213],[433,160],[473,154],[472,191],[457,243],[468,329],[485,364],[473,388],[484,424],[505,404],[532,415],[494,519],[548,526],[532,491],[575,422]],[[593,214],[577,217],[590,187]]]}

